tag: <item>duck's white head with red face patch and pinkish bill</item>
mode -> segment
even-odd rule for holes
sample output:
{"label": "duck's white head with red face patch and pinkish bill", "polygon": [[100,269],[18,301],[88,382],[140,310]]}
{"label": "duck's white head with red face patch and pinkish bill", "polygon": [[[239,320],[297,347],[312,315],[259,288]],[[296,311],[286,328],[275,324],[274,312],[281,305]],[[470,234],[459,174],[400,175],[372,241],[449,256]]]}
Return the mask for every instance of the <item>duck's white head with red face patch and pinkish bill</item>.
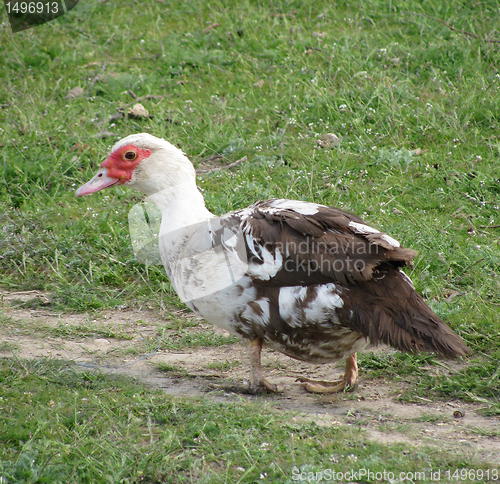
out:
{"label": "duck's white head with red face patch and pinkish bill", "polygon": [[196,171],[186,155],[162,138],[148,133],[118,141],[95,176],[75,193],[81,197],[115,185],[154,195],[178,185],[196,184]]}

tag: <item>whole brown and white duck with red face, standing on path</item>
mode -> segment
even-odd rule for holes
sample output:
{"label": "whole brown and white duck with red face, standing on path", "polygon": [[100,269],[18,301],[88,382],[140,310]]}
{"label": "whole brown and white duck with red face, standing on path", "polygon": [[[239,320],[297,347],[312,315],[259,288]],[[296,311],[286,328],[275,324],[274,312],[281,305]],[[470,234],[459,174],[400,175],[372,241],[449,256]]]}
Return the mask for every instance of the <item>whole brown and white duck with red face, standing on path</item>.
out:
{"label": "whole brown and white duck with red face, standing on path", "polygon": [[185,155],[144,133],[119,141],[76,195],[116,184],[146,193],[161,210],[160,254],[180,298],[250,340],[255,389],[278,389],[262,375],[262,345],[310,362],[346,358],[343,381],[307,382],[318,392],[354,385],[356,352],[370,344],[470,352],[402,272],[416,252],[353,214],[273,199],[215,217]]}

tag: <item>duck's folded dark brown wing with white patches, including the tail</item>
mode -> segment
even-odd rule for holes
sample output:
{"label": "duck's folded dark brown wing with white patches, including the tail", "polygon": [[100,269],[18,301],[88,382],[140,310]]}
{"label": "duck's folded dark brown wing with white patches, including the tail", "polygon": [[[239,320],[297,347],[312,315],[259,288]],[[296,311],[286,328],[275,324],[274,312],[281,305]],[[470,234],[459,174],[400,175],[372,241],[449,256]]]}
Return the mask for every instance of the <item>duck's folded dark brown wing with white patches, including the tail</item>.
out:
{"label": "duck's folded dark brown wing with white patches, including the tail", "polygon": [[359,217],[281,199],[258,202],[235,215],[245,237],[248,275],[259,293],[266,287],[333,283],[343,302],[336,309],[342,325],[372,344],[449,357],[470,353],[400,270],[417,252]]}

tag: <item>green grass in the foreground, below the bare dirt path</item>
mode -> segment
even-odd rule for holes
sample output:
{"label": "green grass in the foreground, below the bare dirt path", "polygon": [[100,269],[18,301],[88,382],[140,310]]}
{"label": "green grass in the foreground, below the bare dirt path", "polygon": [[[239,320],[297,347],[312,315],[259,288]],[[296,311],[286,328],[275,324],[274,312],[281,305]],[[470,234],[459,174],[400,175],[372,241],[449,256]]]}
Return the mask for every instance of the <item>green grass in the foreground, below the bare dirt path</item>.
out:
{"label": "green grass in the foreground, below the bare dirt path", "polygon": [[173,398],[51,360],[0,360],[0,390],[4,482],[291,483],[294,466],[488,468],[435,449],[372,443],[363,424],[320,427],[253,403]]}

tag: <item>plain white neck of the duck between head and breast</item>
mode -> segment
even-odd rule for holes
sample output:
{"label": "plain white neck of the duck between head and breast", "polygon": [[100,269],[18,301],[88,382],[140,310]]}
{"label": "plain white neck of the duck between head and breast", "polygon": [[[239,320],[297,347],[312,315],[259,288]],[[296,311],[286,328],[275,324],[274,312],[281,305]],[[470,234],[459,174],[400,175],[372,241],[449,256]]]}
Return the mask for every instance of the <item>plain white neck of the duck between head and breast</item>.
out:
{"label": "plain white neck of the duck between head and breast", "polygon": [[182,229],[204,222],[214,215],[205,206],[196,180],[189,180],[173,187],[150,194],[149,199],[162,213],[162,232]]}

